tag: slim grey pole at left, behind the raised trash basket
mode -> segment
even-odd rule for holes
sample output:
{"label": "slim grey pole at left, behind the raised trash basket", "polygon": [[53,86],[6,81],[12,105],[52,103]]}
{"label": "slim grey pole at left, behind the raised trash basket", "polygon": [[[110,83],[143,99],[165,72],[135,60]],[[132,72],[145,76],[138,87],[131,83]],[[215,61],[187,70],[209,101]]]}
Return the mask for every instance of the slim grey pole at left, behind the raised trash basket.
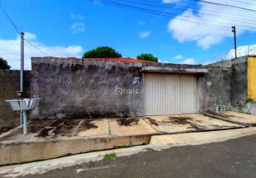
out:
{"label": "slim grey pole at left, behind the raised trash basket", "polygon": [[[20,79],[19,79],[19,92],[18,97],[23,97],[23,70],[24,70],[24,33],[21,32],[21,71],[20,71]],[[19,124],[23,125],[23,113],[19,113]]]}

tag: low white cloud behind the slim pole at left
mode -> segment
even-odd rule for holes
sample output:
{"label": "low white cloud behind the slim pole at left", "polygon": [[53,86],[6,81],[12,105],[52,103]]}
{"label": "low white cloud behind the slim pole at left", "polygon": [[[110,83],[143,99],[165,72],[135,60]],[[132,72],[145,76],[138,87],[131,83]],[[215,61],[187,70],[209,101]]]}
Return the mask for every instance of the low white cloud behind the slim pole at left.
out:
{"label": "low white cloud behind the slim pole at left", "polygon": [[[82,55],[82,46],[46,46],[43,43],[36,41],[36,35],[32,33],[25,33],[25,38],[41,51],[49,54],[49,56],[81,57]],[[19,36],[9,40],[0,38],[0,57],[7,60],[11,69],[20,68],[20,43]],[[26,70],[31,69],[31,57],[46,56],[46,54],[41,53],[36,48],[24,42],[24,68]]]}

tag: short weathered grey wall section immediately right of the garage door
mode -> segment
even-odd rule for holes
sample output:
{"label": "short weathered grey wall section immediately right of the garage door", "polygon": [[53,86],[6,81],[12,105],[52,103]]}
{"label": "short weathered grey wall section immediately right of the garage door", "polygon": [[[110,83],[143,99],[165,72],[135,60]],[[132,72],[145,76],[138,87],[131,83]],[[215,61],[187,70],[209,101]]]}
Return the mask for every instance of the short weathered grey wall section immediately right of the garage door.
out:
{"label": "short weathered grey wall section immediately right of the garage door", "polygon": [[199,110],[213,110],[215,104],[231,108],[231,68],[208,66],[209,73],[198,76]]}

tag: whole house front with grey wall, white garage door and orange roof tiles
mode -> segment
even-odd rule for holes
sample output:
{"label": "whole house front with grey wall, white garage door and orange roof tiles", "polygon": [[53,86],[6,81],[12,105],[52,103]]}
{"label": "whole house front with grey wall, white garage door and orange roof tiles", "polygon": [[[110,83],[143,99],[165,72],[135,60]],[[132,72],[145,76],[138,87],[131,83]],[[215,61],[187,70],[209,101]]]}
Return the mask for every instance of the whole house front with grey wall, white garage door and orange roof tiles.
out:
{"label": "whole house front with grey wall, white garage door and orange roof tiles", "polygon": [[232,69],[132,58],[32,58],[34,119],[138,117],[231,109]]}

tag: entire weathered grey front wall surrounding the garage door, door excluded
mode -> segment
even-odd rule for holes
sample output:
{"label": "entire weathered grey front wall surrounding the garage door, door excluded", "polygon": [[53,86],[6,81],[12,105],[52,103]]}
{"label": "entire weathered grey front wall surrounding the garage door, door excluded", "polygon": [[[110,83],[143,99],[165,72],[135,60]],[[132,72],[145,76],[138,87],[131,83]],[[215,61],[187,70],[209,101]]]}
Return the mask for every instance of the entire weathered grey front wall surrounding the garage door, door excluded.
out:
{"label": "entire weathered grey front wall surrounding the garage door, door excluded", "polygon": [[[124,63],[69,58],[32,58],[32,97],[41,98],[36,119],[133,117],[143,115],[142,69],[175,68],[198,76],[198,109],[230,109],[231,68],[164,63]],[[198,74],[198,71],[209,73]],[[162,71],[162,70],[161,70]],[[201,72],[202,72],[201,71]],[[159,72],[158,70],[156,72]],[[133,79],[139,77],[139,83]],[[211,85],[207,85],[211,82]]]}

